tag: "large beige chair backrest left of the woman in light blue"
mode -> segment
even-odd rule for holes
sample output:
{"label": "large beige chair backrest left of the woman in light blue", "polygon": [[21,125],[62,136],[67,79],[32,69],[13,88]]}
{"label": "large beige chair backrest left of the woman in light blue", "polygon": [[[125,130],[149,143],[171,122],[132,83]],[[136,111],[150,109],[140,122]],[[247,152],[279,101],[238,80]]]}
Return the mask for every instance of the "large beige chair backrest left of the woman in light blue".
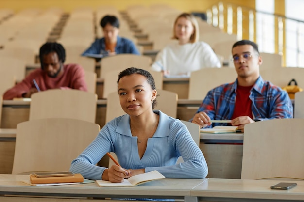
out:
{"label": "large beige chair backrest left of the woman in light blue", "polygon": [[77,119],[47,118],[17,125],[12,174],[68,171],[71,161],[95,139],[100,126]]}

